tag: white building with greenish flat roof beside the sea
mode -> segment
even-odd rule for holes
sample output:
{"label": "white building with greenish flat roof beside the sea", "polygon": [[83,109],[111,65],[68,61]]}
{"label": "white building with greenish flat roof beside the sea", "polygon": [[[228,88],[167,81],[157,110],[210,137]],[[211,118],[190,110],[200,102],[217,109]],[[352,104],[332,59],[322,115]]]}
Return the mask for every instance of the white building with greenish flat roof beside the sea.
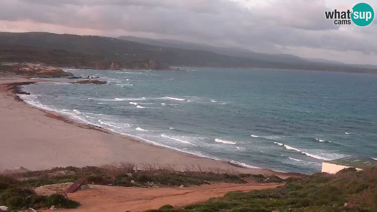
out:
{"label": "white building with greenish flat roof beside the sea", "polygon": [[361,160],[357,158],[340,158],[322,162],[322,172],[335,174],[342,169],[354,167],[357,171],[377,166],[377,162],[372,160]]}

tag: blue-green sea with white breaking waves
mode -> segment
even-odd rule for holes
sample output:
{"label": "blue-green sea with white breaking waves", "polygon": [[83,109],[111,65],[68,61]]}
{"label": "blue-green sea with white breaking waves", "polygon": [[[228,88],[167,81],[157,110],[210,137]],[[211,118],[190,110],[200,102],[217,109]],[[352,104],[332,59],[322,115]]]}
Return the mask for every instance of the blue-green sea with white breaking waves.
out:
{"label": "blue-green sea with white breaking waves", "polygon": [[107,84],[54,78],[23,86],[31,95],[20,97],[156,146],[245,167],[312,174],[323,161],[377,160],[377,75],[181,69],[71,69]]}

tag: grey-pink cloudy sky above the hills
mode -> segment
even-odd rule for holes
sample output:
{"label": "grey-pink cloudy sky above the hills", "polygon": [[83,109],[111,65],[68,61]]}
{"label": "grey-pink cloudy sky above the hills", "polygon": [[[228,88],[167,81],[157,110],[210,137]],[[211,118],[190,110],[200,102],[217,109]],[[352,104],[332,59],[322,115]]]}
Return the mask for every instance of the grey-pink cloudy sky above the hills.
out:
{"label": "grey-pink cloudy sky above the hills", "polygon": [[[375,0],[363,0],[374,10]],[[2,0],[0,31],[176,39],[377,65],[377,22],[334,25],[354,0]]]}

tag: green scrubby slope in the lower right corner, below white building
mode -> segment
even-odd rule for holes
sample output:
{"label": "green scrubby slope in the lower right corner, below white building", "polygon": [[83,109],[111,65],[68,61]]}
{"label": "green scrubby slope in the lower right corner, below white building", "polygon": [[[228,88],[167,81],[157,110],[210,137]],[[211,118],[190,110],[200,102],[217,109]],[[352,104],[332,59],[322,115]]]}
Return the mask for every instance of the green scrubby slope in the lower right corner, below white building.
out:
{"label": "green scrubby slope in the lower right corner, below white building", "polygon": [[205,203],[183,208],[166,205],[146,212],[377,212],[377,168],[316,173],[286,182],[276,189],[229,192]]}

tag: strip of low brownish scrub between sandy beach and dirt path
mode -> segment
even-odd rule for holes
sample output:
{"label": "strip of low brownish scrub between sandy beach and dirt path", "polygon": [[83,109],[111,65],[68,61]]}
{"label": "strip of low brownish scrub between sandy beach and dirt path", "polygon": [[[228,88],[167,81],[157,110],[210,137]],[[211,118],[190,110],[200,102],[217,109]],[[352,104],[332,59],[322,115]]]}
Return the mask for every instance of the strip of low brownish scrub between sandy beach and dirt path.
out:
{"label": "strip of low brownish scrub between sandy beach and dirt path", "polygon": [[[142,164],[138,167],[135,163],[104,164],[100,167],[55,167],[14,176],[25,181],[31,187],[74,182],[78,178],[86,178],[87,182],[91,184],[129,187],[150,186],[152,183],[156,186],[190,186],[213,182],[245,183],[243,177],[252,177],[251,175],[239,174],[234,170],[202,169],[201,167],[187,166],[186,171],[181,172],[176,171],[175,167],[172,166]],[[256,179],[262,179],[259,175],[257,177]]]}

